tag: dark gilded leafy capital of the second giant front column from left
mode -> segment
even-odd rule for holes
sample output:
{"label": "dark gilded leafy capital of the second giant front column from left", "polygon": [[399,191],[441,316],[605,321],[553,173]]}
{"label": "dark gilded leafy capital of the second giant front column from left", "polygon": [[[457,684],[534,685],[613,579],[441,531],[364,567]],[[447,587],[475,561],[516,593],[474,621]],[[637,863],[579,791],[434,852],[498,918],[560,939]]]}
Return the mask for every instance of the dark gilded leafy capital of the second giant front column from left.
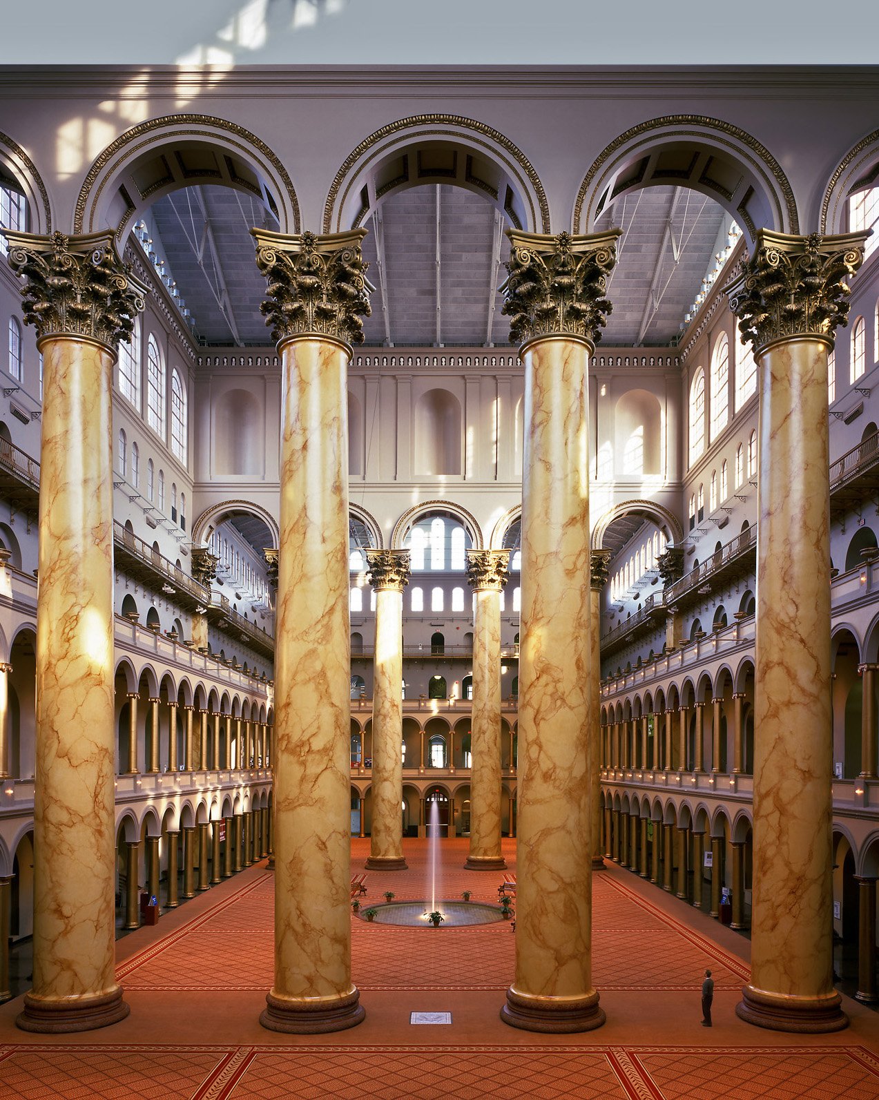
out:
{"label": "dark gilded leafy capital of the second giant front column from left", "polygon": [[369,266],[360,242],[365,229],[317,237],[287,237],[252,229],[256,266],[266,278],[266,298],[260,309],[272,338],[327,336],[345,343],[363,343],[370,294]]}

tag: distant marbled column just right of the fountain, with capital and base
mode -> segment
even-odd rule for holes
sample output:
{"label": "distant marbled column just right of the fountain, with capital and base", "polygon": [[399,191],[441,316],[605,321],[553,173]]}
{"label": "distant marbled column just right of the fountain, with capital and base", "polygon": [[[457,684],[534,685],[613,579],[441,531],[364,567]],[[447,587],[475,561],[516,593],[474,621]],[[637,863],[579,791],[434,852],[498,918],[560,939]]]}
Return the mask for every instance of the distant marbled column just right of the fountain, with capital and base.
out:
{"label": "distant marbled column just right of the fountain, with capital and base", "polygon": [[497,871],[501,854],[501,593],[509,580],[508,550],[468,550],[466,576],[476,597],[473,620],[470,851],[464,867]]}

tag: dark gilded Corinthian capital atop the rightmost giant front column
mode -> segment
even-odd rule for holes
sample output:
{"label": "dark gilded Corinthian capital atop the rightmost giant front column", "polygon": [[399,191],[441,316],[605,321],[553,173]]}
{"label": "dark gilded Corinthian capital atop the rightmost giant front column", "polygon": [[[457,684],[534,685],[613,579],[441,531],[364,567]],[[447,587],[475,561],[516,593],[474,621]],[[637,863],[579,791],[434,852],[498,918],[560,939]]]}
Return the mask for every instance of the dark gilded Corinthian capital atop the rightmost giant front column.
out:
{"label": "dark gilded Corinthian capital atop the rightmost giant front column", "polygon": [[743,340],[758,354],[796,337],[833,343],[848,320],[847,278],[864,262],[867,233],[807,237],[761,229],[752,256],[725,288]]}

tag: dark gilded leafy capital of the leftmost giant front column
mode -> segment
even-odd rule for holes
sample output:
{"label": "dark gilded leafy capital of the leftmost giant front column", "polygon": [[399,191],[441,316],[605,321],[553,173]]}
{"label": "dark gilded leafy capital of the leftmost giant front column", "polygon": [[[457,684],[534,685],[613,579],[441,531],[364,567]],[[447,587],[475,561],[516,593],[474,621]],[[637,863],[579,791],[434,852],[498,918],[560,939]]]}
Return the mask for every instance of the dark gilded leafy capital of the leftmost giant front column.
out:
{"label": "dark gilded leafy capital of the leftmost giant front column", "polygon": [[116,251],[112,232],[68,237],[4,231],[9,264],[26,279],[23,315],[37,338],[78,336],[116,352],[130,340],[146,287]]}

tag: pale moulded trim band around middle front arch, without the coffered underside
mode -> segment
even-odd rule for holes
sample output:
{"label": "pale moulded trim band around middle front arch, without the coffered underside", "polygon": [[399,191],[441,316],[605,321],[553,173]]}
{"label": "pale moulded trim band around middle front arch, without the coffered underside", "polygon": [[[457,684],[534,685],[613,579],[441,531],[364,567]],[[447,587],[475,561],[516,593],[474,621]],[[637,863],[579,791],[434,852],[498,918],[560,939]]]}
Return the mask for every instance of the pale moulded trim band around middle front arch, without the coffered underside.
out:
{"label": "pale moulded trim band around middle front arch, without the coffered underside", "polygon": [[[531,216],[531,226],[535,232],[549,232],[549,202],[547,201],[543,185],[537,175],[532,164],[508,138],[505,138],[499,130],[469,119],[462,114],[410,114],[405,119],[397,119],[396,122],[388,122],[378,130],[370,134],[353,148],[344,160],[344,163],[336,174],[323,207],[323,232],[332,232],[333,216],[336,217],[337,232],[339,231],[341,212],[344,209],[349,193],[354,185],[356,174],[352,173],[354,165],[365,168],[367,164],[375,161],[382,153],[393,148],[396,138],[410,130],[414,139],[420,138],[462,138],[481,145],[493,157],[497,157],[504,167],[517,180],[521,189],[523,201],[528,204]],[[392,139],[385,141],[385,139]],[[381,144],[383,143],[384,144]],[[503,152],[502,152],[503,151]],[[365,156],[369,154],[369,156]],[[507,154],[507,155],[504,155]],[[512,158],[512,160],[510,160]],[[525,174],[528,185],[520,173]],[[341,200],[339,195],[341,194]],[[535,199],[539,207],[540,229],[537,228],[537,211],[535,210]],[[337,200],[338,205],[337,205]]]}

